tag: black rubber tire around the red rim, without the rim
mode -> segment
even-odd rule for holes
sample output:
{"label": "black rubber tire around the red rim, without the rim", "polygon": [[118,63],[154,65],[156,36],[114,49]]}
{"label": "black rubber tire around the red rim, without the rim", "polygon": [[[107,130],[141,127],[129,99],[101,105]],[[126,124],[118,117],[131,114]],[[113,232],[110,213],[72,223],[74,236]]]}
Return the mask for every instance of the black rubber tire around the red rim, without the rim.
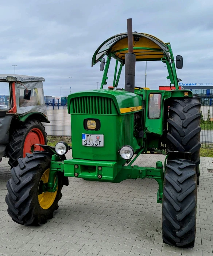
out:
{"label": "black rubber tire around the red rim, without the rim", "polygon": [[18,159],[23,158],[24,142],[27,134],[34,128],[38,128],[42,131],[44,136],[44,144],[47,144],[47,133],[45,127],[39,120],[27,120],[26,122],[20,122],[18,127],[14,127],[10,136],[10,142],[7,148],[7,155],[9,156],[9,165],[15,167],[18,165]]}

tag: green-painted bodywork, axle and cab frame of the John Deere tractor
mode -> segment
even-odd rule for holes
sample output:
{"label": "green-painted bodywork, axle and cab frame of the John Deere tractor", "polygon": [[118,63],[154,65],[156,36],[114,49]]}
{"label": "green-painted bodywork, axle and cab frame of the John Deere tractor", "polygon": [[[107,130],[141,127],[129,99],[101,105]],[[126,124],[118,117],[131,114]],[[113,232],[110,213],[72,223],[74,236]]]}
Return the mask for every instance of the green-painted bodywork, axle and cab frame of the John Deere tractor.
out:
{"label": "green-painted bodywork, axle and cab frame of the John Deere tractor", "polygon": [[[105,41],[102,45],[106,42],[108,41]],[[94,53],[92,65],[96,64],[95,57],[101,47]],[[155,48],[135,47],[134,49],[159,51]],[[127,50],[125,48],[116,52]],[[103,89],[103,86],[107,85],[107,74],[112,58],[116,60],[116,64],[111,86],[115,88],[118,86],[121,70],[125,63],[116,56],[116,52],[112,52],[112,45],[107,52],[103,51],[103,54],[107,55],[107,62],[100,89],[72,93],[68,96],[67,104],[68,113],[71,116],[73,159],[61,161],[57,155],[53,155],[50,177],[45,189],[49,189],[48,191],[55,189],[56,182],[54,182],[54,179],[57,171],[64,172],[66,177],[83,178],[88,181],[118,183],[130,178],[154,178],[159,185],[157,202],[161,203],[164,179],[162,162],[156,162],[155,168],[132,166],[132,164],[139,155],[147,151],[156,151],[165,155],[163,144],[166,141],[167,131],[165,131],[165,126],[167,124],[168,108],[165,102],[172,97],[183,99],[185,92],[189,93],[189,97],[192,97],[193,94],[191,91],[179,90],[178,88],[175,60],[170,44],[164,44],[164,50],[162,49],[164,57],[147,59],[147,61],[159,60],[166,64],[169,74],[167,79],[170,79],[170,83],[175,86],[175,90],[135,89],[135,93],[130,93],[124,90]],[[167,55],[167,52],[169,52],[169,55]],[[137,61],[146,61],[146,59],[137,59]],[[120,67],[117,72],[118,63],[120,63]],[[159,103],[150,100],[150,94],[159,94]],[[159,111],[155,112],[155,108]],[[158,112],[159,115],[157,115]],[[165,113],[166,116],[164,116]],[[100,123],[100,127],[96,123],[97,130],[88,130],[87,123],[85,126],[85,119],[96,120],[97,123]],[[104,146],[85,146],[82,134],[103,134]],[[129,160],[121,158],[119,151],[124,145],[131,146],[136,156]]]}

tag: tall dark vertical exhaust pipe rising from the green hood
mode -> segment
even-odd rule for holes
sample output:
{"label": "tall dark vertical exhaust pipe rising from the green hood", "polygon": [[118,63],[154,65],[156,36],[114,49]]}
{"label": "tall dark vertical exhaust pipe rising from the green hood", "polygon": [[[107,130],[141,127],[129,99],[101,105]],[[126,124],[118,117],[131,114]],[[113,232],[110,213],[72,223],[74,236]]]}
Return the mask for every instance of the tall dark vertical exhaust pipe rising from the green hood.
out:
{"label": "tall dark vertical exhaust pipe rising from the green hood", "polygon": [[125,54],[125,91],[135,92],[135,53],[133,53],[132,19],[127,19],[128,53]]}

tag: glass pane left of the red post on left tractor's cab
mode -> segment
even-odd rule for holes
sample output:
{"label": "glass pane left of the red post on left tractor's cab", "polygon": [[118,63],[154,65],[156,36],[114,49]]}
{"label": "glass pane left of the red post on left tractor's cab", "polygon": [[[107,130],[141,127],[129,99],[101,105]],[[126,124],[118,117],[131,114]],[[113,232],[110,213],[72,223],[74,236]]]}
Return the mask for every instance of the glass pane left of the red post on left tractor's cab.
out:
{"label": "glass pane left of the red post on left tractor's cab", "polygon": [[0,82],[0,111],[10,110],[11,100],[10,100],[10,89],[8,82]]}

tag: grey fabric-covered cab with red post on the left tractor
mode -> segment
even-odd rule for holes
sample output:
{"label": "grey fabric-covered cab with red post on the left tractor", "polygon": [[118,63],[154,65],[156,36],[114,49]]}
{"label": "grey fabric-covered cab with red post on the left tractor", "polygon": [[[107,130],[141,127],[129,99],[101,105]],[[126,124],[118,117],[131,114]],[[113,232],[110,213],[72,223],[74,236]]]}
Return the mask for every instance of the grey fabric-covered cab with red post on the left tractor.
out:
{"label": "grey fabric-covered cab with red post on the left tractor", "polygon": [[[45,81],[43,77],[0,74],[0,87],[7,88],[9,85],[8,90],[0,89],[0,99],[2,99],[0,111],[9,111],[12,106],[16,105],[15,114],[22,116],[31,112],[41,112],[46,115],[43,81]],[[5,90],[9,92],[9,95],[5,93]]]}

